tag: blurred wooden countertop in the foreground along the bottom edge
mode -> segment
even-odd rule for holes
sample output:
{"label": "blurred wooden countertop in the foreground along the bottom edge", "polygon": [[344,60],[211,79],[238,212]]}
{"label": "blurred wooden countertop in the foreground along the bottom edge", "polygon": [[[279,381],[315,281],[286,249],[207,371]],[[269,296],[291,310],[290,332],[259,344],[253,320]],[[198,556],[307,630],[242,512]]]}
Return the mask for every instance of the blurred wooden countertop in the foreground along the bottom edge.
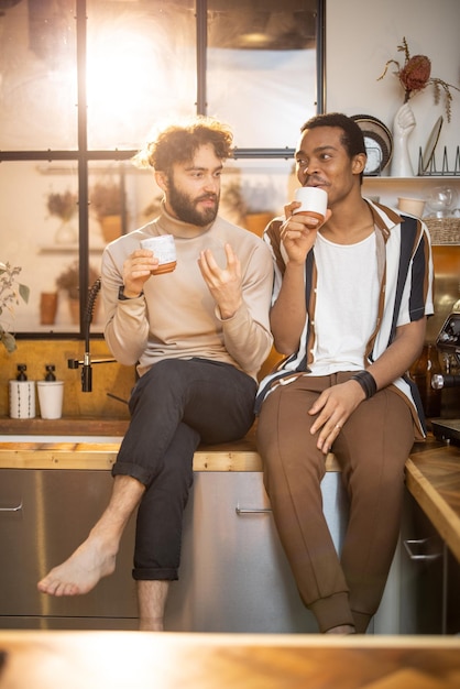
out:
{"label": "blurred wooden countertop in the foreground along the bottom edge", "polygon": [[2,689],[458,689],[460,639],[1,631]]}

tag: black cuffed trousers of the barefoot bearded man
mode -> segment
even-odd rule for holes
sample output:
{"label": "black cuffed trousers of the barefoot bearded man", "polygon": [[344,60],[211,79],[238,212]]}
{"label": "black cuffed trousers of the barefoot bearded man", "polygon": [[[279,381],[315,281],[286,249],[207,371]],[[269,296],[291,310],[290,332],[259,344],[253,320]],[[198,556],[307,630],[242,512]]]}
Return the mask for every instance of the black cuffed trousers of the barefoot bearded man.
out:
{"label": "black cuffed trousers of the barefoot bearded man", "polygon": [[194,452],[200,442],[244,436],[254,420],[255,392],[251,376],[207,359],[160,361],[138,381],[112,469],[146,488],[138,511],[134,579],[178,578]]}

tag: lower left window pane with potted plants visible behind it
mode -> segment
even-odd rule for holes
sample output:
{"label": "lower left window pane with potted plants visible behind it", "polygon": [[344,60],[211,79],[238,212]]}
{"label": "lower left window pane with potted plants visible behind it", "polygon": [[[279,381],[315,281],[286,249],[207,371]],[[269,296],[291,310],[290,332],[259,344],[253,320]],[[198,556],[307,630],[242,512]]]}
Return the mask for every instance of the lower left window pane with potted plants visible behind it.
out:
{"label": "lower left window pane with potted plants visible behind it", "polygon": [[[72,298],[78,304],[78,206],[76,166],[3,162],[0,165],[0,261],[20,266],[30,287],[28,304],[3,309],[1,324],[15,332],[78,331]],[[52,302],[55,313],[41,314]],[[78,306],[76,306],[78,316]]]}

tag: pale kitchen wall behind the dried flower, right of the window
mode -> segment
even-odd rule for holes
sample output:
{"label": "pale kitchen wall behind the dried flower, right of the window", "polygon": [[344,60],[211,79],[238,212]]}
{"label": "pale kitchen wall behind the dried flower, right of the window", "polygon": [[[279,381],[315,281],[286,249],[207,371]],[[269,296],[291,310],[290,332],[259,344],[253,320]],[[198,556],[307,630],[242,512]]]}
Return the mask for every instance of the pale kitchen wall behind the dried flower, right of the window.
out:
{"label": "pale kitchen wall behind the dried flower, right of the window", "polygon": [[[460,84],[460,2],[458,0],[326,0],[326,110],[346,114],[372,114],[390,129],[403,103],[398,79],[388,74],[387,59],[404,64],[397,52],[406,36],[410,55],[431,59],[431,76]],[[438,146],[454,151],[460,144],[460,92],[452,90],[452,120],[442,125]],[[417,127],[409,152],[417,169],[418,149],[425,146],[442,101],[434,102],[428,87],[412,99]],[[454,160],[452,158],[452,165]]]}

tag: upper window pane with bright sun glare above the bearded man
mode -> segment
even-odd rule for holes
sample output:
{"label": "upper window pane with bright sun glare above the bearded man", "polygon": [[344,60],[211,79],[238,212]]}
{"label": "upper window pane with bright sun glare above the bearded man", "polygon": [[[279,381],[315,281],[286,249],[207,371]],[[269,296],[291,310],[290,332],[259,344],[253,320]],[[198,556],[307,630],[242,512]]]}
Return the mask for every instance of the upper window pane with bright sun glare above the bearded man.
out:
{"label": "upper window pane with bright sun glare above the bearded man", "polygon": [[194,0],[88,1],[88,145],[136,149],[196,112]]}

